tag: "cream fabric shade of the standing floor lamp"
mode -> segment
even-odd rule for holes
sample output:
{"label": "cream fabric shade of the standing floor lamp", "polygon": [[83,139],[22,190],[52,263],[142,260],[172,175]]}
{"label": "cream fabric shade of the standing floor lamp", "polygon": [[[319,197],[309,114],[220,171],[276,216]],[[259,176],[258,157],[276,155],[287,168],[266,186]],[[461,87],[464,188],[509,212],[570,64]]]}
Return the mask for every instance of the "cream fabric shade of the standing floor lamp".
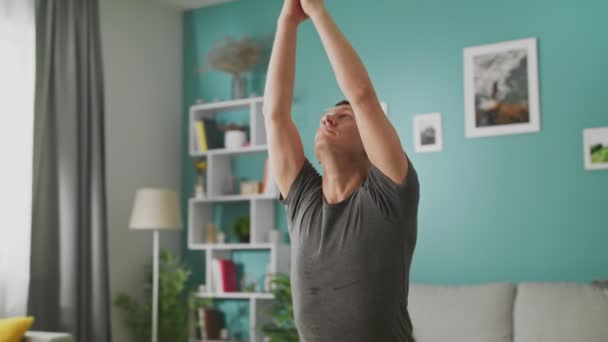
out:
{"label": "cream fabric shade of the standing floor lamp", "polygon": [[175,191],[153,188],[137,190],[129,228],[168,230],[181,227],[182,220]]}

